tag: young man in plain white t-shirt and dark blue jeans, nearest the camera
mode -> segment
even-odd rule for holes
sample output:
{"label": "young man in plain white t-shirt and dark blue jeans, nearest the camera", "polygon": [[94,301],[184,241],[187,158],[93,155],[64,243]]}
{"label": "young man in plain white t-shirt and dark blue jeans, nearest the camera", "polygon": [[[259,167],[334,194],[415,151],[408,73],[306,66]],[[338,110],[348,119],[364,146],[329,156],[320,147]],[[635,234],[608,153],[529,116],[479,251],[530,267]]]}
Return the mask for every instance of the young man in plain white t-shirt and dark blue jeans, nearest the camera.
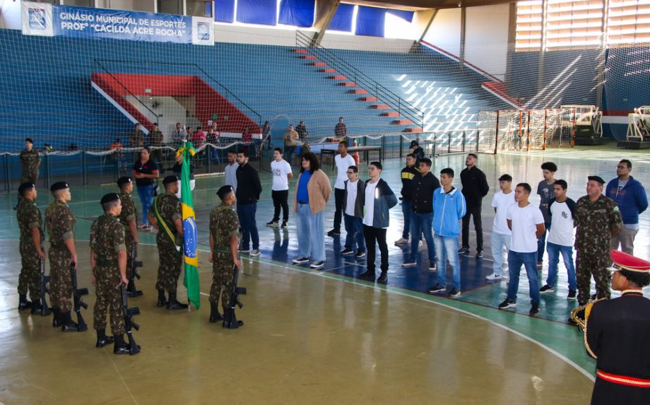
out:
{"label": "young man in plain white t-shirt and dark blue jeans, nearest the camera", "polygon": [[526,269],[528,286],[531,295],[531,310],[528,315],[539,313],[539,281],[535,261],[537,259],[537,238],[544,233],[544,217],[542,212],[531,205],[528,198],[531,196],[531,185],[519,183],[514,189],[514,199],[517,204],[508,208],[506,216],[508,228],[512,230],[512,240],[508,251],[508,269],[510,283],[508,284],[508,297],[499,304],[499,309],[504,310],[517,305],[517,290],[519,289],[519,272],[521,265]]}

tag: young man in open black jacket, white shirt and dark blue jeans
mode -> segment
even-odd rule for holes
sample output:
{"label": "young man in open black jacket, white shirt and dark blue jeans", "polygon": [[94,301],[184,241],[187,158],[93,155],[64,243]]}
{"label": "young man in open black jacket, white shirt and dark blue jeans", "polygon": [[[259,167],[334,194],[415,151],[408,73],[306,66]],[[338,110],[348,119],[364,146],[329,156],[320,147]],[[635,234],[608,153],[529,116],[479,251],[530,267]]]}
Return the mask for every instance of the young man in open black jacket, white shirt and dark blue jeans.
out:
{"label": "young man in open black jacket, white shirt and dark blue jeans", "polygon": [[365,183],[359,180],[359,168],[348,168],[348,180],[345,180],[345,198],[343,199],[343,223],[345,223],[345,249],[341,254],[353,254],[357,248],[358,259],[365,256],[363,239],[363,200]]}

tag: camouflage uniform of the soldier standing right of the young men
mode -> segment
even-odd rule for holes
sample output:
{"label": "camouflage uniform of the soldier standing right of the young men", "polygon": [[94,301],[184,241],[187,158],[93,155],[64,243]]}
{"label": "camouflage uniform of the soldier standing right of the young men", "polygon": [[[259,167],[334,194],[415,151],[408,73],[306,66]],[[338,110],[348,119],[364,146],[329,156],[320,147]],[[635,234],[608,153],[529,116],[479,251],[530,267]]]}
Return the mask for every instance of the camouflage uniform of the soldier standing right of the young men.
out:
{"label": "camouflage uniform of the soldier standing right of the young men", "polygon": [[576,203],[574,220],[576,232],[576,276],[578,284],[578,303],[589,301],[591,275],[596,281],[598,298],[610,298],[611,266],[610,241],[613,228],[623,228],[623,220],[616,203],[601,195],[592,202],[589,196],[580,197]]}

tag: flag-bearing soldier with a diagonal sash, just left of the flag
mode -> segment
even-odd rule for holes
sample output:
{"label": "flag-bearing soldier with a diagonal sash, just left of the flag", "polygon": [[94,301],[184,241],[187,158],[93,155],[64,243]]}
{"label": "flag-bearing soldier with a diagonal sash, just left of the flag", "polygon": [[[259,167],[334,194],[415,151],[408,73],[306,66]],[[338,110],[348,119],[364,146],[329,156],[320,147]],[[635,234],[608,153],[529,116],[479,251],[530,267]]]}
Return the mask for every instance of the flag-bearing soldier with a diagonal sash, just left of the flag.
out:
{"label": "flag-bearing soldier with a diagonal sash, just left of the flag", "polygon": [[[183,223],[181,201],[176,196],[178,192],[178,177],[167,176],[162,180],[165,194],[157,196],[149,209],[148,219],[158,229],[155,243],[158,245],[160,263],[158,264],[158,306],[167,305],[168,310],[184,310],[187,304],[181,304],[176,299],[176,286],[181,274],[183,262]],[[165,290],[169,300],[165,298]]]}

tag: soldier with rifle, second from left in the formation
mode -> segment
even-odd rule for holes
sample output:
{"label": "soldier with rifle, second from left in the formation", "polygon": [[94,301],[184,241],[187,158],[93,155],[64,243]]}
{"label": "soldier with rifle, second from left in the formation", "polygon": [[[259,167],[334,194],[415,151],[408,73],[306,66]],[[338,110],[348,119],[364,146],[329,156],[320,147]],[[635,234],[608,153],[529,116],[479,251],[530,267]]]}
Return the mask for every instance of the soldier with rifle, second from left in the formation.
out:
{"label": "soldier with rifle, second from left in the formation", "polygon": [[74,225],[76,218],[67,203],[72,199],[66,182],[52,184],[49,188],[54,202],[45,211],[45,225],[49,233],[49,296],[54,312],[53,327],[61,326],[64,332],[78,331],[72,322],[72,274],[77,268],[77,250],[74,245]]}

